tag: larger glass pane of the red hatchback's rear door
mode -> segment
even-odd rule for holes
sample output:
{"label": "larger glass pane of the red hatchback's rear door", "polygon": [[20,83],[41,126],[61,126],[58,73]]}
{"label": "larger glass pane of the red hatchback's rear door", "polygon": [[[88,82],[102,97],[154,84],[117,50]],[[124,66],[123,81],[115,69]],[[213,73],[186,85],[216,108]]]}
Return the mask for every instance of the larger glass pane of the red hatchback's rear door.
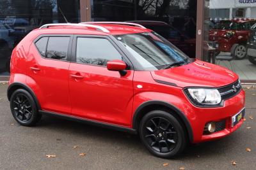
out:
{"label": "larger glass pane of the red hatchback's rear door", "polygon": [[67,60],[70,37],[49,37],[45,58]]}

